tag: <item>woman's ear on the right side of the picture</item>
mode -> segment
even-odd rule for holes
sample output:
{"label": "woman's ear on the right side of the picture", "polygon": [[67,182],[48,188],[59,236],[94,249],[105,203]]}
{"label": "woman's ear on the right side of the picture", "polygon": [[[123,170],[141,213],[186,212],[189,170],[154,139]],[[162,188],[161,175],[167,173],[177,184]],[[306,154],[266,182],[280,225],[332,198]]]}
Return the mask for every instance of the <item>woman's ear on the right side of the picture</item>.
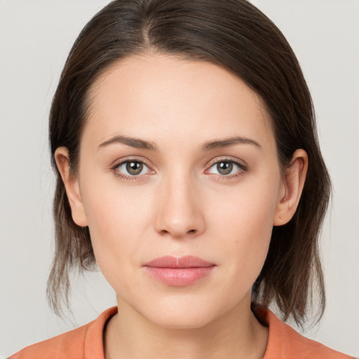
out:
{"label": "woman's ear on the right side of the picture", "polygon": [[282,226],[290,221],[297,210],[308,170],[308,155],[304,149],[297,149],[289,168],[285,170],[281,184],[273,226]]}

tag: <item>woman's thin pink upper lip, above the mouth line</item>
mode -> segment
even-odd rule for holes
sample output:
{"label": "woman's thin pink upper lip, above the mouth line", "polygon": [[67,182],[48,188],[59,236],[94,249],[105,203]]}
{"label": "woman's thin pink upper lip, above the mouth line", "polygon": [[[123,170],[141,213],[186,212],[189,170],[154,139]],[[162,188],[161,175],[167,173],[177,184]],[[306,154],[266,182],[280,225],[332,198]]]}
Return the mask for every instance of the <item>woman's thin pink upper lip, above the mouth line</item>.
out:
{"label": "woman's thin pink upper lip, above the mouth line", "polygon": [[152,259],[150,262],[144,264],[144,266],[152,266],[156,268],[198,268],[214,266],[215,264],[205,261],[202,258],[187,255],[184,257],[172,257],[165,255]]}

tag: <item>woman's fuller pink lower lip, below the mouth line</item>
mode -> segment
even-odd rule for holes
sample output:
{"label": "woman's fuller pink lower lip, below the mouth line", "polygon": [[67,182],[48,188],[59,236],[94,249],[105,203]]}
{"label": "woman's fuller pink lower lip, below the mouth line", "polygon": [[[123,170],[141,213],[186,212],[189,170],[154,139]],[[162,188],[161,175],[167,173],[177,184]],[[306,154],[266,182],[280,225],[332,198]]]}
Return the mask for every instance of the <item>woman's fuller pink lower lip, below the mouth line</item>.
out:
{"label": "woman's fuller pink lower lip, below the mouth line", "polygon": [[174,287],[191,285],[210,275],[215,266],[193,268],[159,268],[146,266],[147,272],[162,283]]}

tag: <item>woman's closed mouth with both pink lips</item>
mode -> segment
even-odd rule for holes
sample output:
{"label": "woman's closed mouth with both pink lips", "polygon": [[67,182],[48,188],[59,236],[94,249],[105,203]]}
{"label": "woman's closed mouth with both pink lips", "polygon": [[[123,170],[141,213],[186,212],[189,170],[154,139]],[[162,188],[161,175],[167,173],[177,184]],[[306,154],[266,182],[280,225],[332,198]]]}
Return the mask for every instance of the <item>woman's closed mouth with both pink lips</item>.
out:
{"label": "woman's closed mouth with both pink lips", "polygon": [[194,256],[163,256],[144,264],[150,276],[174,287],[194,284],[209,276],[215,267],[215,264]]}

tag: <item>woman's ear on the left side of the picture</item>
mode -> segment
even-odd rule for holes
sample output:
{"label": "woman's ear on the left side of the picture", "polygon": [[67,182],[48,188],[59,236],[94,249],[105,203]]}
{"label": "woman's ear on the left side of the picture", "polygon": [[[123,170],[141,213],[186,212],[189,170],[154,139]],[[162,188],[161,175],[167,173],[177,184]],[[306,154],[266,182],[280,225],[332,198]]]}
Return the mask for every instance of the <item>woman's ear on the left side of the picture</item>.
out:
{"label": "woman's ear on the left side of the picture", "polygon": [[85,208],[80,194],[79,179],[69,165],[69,151],[66,147],[58,147],[55,151],[55,161],[60,172],[62,182],[65,184],[67,198],[71,207],[72,219],[78,226],[87,226]]}

